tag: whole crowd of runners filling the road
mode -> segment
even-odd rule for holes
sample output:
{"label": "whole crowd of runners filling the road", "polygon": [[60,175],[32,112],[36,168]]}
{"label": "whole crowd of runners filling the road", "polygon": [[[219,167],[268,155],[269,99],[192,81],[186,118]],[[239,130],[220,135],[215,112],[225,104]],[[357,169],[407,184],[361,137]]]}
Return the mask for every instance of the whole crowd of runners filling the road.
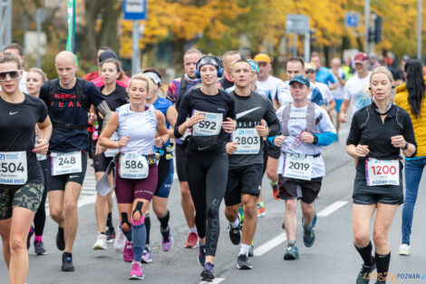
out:
{"label": "whole crowd of runners filling the road", "polygon": [[[244,60],[231,51],[222,58],[223,64],[216,56],[189,49],[184,76],[173,80],[162,98],[157,69],[129,78],[107,47],[98,52],[99,70],[86,80],[75,75],[75,55],[61,52],[55,57],[58,79],[47,81],[42,70],[33,68],[25,73],[23,90],[22,47],[6,47],[0,55],[0,130],[6,133],[0,140],[0,234],[11,283],[24,283],[33,233],[34,252],[46,253],[46,195],[58,224],[62,269],[74,270],[77,205],[89,155],[97,181],[93,250],[106,250],[114,240],[123,260],[131,262],[130,279],[143,279],[141,263],[152,261],[151,201],[160,221],[161,249],[171,250],[174,242],[168,210],[174,173],[170,138],[189,227],[184,247],[198,246],[202,280],[215,279],[222,200],[229,239],[240,245],[237,268],[252,269],[248,257],[253,256],[257,217],[266,214],[265,172],[274,198],[286,202],[284,260],[299,259],[297,201],[304,244],[310,248],[315,244],[315,199],[325,175],[321,152],[338,139],[334,109],[336,122],[352,121],[346,144],[356,162],[353,242],[363,259],[356,283],[368,283],[376,268],[383,276],[377,283],[385,283],[389,229],[403,202],[401,151],[410,203],[403,210],[400,254],[410,254],[412,211],[425,164],[421,63],[405,64],[407,83],[396,95],[400,107],[393,103],[392,73],[385,67],[370,72],[367,54],[354,56],[356,74],[347,81],[339,60],[330,70],[321,65],[319,54],[313,54],[312,63],[289,58],[286,82],[269,74],[267,54]],[[112,190],[120,216],[117,230],[111,220]],[[375,257],[370,241],[374,211]]]}

